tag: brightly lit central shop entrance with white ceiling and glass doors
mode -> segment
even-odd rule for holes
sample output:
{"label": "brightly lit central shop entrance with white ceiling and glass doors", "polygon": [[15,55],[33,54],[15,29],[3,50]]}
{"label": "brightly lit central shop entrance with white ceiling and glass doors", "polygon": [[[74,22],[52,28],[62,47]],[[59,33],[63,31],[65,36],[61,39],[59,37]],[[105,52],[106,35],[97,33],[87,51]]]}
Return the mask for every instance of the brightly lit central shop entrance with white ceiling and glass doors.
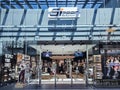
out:
{"label": "brightly lit central shop entrance with white ceiling and glass doors", "polygon": [[[38,84],[88,84],[88,50],[94,45],[30,45],[37,50]],[[68,48],[69,47],[69,48]],[[34,82],[35,83],[35,82]]]}

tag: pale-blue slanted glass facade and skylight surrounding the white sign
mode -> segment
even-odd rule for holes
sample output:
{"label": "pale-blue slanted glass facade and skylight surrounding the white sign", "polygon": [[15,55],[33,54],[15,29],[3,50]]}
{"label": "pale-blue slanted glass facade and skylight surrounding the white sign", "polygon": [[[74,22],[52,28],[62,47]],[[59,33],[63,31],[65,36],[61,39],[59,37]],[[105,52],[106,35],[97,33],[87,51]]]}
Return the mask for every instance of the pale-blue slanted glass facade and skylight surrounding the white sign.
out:
{"label": "pale-blue slanted glass facade and skylight surrounding the white sign", "polygon": [[[46,41],[46,44],[47,41],[61,40],[85,42],[92,40],[92,43],[96,40],[118,41],[120,8],[101,9],[108,4],[114,4],[112,2],[120,3],[120,0],[0,0],[0,40]],[[115,5],[119,6],[118,4]],[[77,19],[49,20],[47,10],[44,10],[49,7],[88,9],[81,9],[81,16]],[[106,32],[109,27],[116,31]]]}

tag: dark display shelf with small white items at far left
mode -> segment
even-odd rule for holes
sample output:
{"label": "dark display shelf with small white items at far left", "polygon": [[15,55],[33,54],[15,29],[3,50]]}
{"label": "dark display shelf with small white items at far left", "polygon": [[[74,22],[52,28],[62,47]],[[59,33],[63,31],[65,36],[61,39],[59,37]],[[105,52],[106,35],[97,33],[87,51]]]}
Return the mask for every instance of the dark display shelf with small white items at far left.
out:
{"label": "dark display shelf with small white items at far left", "polygon": [[2,57],[2,68],[1,68],[1,83],[8,83],[15,80],[15,63],[14,56],[11,54],[5,54]]}

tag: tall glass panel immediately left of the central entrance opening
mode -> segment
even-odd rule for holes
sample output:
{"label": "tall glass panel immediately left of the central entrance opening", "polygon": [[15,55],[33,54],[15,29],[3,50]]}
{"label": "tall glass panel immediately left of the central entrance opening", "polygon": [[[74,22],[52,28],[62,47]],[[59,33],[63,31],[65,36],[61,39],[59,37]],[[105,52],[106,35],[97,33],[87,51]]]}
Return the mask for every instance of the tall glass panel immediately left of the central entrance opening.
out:
{"label": "tall glass panel immediately left of the central entrance opening", "polygon": [[24,60],[19,65],[24,65],[24,83],[27,84],[39,84],[39,72],[40,72],[40,53],[36,50],[37,42],[26,41],[24,44],[24,52],[20,53],[24,57]]}

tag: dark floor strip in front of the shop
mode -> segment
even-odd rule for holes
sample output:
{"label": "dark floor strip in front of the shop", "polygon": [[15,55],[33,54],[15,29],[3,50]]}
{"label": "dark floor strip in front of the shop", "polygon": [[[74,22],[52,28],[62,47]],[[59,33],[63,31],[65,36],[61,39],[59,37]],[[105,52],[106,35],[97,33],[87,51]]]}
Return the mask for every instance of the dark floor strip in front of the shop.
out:
{"label": "dark floor strip in front of the shop", "polygon": [[27,85],[23,88],[16,88],[15,84],[6,85],[3,87],[0,87],[0,90],[120,90],[120,87],[118,88],[106,88],[106,87],[93,87],[82,84],[75,84],[75,85],[68,85],[68,84],[42,84],[41,86],[38,85]]}

